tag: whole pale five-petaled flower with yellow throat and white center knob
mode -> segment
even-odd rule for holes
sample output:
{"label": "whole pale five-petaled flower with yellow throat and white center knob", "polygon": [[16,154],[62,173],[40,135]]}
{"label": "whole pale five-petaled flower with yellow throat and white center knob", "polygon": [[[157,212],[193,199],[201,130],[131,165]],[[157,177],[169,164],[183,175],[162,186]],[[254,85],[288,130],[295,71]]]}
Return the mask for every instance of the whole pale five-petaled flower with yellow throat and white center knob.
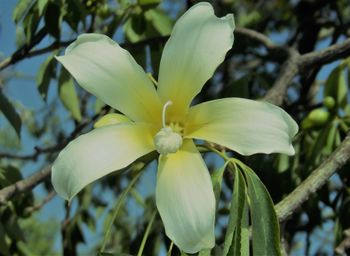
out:
{"label": "whole pale five-petaled flower with yellow throat and white center knob", "polygon": [[188,253],[212,248],[215,198],[193,139],[243,155],[294,154],[298,130],[286,112],[264,102],[225,98],[190,106],[231,49],[233,30],[232,14],[218,18],[204,2],[190,8],[165,45],[157,89],[116,42],[79,36],[57,59],[84,89],[125,116],[62,150],[52,169],[57,193],[71,200],[87,184],[157,150],[156,203],[166,234]]}

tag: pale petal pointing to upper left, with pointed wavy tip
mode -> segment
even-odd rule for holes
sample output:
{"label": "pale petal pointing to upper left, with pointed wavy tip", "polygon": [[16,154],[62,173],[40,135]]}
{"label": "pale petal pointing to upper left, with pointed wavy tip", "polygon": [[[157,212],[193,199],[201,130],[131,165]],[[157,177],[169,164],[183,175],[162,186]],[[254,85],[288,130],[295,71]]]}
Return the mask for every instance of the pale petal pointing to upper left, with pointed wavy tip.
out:
{"label": "pale petal pointing to upper left, with pointed wavy tip", "polygon": [[162,106],[152,82],[109,37],[80,35],[57,60],[85,90],[132,120],[160,120]]}

